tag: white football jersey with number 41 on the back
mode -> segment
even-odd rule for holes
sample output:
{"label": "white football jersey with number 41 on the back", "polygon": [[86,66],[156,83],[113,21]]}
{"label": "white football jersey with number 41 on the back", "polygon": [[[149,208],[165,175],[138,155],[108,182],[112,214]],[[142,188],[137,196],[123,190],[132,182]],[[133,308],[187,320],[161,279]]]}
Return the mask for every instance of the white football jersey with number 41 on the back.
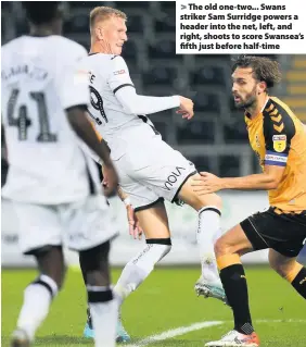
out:
{"label": "white football jersey with number 41 on the back", "polygon": [[1,48],[1,109],[9,156],[2,196],[65,203],[99,189],[97,168],[79,148],[65,110],[90,101],[87,55],[62,36],[22,36]]}

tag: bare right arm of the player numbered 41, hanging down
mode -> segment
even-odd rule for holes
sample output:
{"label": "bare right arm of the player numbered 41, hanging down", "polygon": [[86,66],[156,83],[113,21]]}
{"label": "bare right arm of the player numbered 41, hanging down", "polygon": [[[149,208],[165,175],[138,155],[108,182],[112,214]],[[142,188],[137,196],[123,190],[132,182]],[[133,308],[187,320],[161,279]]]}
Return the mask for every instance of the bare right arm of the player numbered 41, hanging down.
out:
{"label": "bare right arm of the player numbered 41, hanging down", "polygon": [[107,175],[109,185],[104,193],[107,197],[115,195],[118,185],[118,175],[110,158],[110,149],[104,140],[99,140],[89,120],[86,115],[86,108],[73,107],[67,110],[68,121],[85,144],[103,161],[104,170]]}

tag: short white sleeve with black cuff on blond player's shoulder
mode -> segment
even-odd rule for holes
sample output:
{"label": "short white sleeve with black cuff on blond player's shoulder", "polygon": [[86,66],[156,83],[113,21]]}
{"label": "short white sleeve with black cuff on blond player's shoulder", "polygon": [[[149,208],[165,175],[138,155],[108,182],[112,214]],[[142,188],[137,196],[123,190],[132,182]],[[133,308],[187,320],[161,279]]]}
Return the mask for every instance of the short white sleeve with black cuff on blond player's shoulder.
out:
{"label": "short white sleeve with black cuff on blond player's shoulder", "polygon": [[111,58],[111,71],[107,82],[114,94],[122,88],[133,87],[128,66],[120,55]]}

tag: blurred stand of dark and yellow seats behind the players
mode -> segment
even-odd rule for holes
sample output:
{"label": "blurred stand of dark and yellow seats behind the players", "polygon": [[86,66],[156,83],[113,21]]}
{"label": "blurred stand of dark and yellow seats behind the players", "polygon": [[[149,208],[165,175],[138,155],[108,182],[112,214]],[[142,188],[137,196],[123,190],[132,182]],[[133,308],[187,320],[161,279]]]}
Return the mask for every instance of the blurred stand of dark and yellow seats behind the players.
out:
{"label": "blurred stand of dark and yellow seats behind the players", "polygon": [[[179,94],[195,103],[195,117],[186,122],[173,111],[152,116],[163,138],[192,160],[199,170],[222,176],[259,170],[250,149],[242,112],[231,98],[231,55],[176,54],[175,1],[64,2],[64,35],[89,49],[89,12],[95,5],[118,8],[128,15],[129,40],[123,55],[139,94]],[[18,1],[1,1],[2,44],[27,33]],[[272,94],[283,98],[306,121],[306,57],[278,55],[283,83]]]}

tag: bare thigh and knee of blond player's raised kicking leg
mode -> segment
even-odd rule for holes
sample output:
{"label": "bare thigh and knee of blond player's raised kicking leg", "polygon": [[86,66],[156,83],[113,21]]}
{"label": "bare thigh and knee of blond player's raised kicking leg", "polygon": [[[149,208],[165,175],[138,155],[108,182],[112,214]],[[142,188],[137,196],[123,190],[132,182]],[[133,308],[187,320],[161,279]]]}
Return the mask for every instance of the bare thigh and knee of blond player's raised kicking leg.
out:
{"label": "bare thigh and knee of blond player's raised kicking leg", "polygon": [[221,198],[216,194],[206,194],[199,196],[191,186],[192,179],[199,176],[199,173],[190,176],[179,190],[179,198],[194,208],[196,211],[205,206],[215,206],[219,209],[222,207]]}

